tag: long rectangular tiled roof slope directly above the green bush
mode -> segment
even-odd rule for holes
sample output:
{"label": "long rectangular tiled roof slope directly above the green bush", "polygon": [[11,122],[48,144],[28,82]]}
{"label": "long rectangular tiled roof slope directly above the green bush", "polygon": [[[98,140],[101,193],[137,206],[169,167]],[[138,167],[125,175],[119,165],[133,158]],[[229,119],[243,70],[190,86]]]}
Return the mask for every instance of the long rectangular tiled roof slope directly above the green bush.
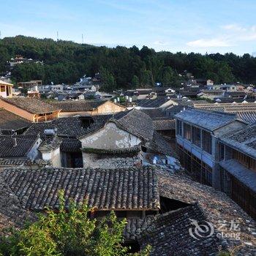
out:
{"label": "long rectangular tiled roof slope directly above the green bush", "polygon": [[98,209],[143,210],[159,208],[157,178],[151,167],[123,169],[5,169],[1,178],[23,208],[57,208],[58,191],[76,202],[87,200]]}

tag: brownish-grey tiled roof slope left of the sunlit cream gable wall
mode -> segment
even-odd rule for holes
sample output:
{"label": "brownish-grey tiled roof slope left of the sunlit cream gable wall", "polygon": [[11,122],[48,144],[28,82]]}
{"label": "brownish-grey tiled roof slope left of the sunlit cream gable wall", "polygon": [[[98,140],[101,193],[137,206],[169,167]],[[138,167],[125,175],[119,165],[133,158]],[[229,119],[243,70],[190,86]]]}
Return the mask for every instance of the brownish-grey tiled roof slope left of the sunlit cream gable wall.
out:
{"label": "brownish-grey tiled roof slope left of the sunlit cream gable wall", "polygon": [[55,108],[61,109],[62,112],[79,112],[79,111],[92,111],[105,103],[106,100],[85,100],[85,101],[64,101],[50,103]]}

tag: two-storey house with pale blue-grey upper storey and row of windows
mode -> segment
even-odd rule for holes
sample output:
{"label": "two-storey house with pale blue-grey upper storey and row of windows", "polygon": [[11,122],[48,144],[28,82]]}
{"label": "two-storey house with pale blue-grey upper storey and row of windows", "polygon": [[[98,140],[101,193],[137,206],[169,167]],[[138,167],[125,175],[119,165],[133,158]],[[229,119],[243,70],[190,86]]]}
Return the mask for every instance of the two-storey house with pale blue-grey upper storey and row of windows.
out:
{"label": "two-storey house with pale blue-grey upper storey and row of windows", "polygon": [[177,154],[195,180],[220,189],[218,140],[246,127],[235,114],[187,108],[176,114]]}

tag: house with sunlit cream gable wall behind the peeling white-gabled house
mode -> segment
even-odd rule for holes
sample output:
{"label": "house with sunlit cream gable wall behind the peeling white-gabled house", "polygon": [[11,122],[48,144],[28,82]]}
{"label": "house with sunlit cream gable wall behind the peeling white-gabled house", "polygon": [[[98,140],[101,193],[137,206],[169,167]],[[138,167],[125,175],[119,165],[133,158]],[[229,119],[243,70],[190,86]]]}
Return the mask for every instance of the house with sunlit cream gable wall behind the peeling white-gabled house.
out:
{"label": "house with sunlit cream gable wall behind the peeling white-gabled house", "polygon": [[60,117],[76,115],[102,115],[117,113],[126,110],[123,105],[118,105],[110,100],[84,100],[52,102],[53,107],[61,109]]}

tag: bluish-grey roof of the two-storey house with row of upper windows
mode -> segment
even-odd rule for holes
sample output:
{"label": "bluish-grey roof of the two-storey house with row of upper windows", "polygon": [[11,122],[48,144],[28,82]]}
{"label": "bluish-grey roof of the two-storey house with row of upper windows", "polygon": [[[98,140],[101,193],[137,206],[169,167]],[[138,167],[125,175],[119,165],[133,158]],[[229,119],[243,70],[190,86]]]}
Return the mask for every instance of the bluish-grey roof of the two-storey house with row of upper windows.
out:
{"label": "bluish-grey roof of the two-storey house with row of upper windows", "polygon": [[187,108],[187,110],[176,114],[176,117],[209,131],[214,131],[236,120],[235,114],[218,113],[197,108]]}

